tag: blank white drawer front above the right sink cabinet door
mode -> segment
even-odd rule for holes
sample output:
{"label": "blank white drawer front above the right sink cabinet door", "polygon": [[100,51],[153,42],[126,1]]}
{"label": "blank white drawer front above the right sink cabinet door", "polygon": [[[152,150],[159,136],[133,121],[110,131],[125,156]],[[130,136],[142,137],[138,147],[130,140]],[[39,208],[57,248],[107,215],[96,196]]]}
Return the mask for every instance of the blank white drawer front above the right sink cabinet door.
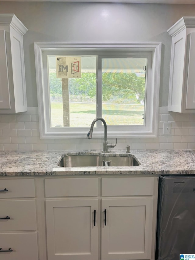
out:
{"label": "blank white drawer front above the right sink cabinet door", "polygon": [[102,196],[147,196],[153,195],[154,178],[102,178]]}

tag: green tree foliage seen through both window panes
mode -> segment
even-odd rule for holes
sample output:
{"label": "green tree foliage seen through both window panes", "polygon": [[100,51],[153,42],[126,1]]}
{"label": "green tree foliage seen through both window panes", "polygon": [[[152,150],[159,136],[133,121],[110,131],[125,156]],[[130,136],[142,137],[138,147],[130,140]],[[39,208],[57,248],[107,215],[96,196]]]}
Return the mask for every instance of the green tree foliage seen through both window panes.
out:
{"label": "green tree foliage seen through both window panes", "polygon": [[[50,93],[55,96],[62,95],[62,80],[56,78],[56,73],[50,73]],[[91,99],[96,96],[96,74],[82,73],[80,79],[69,79],[70,95],[85,95]],[[102,99],[103,102],[116,102],[126,100],[133,103],[144,103],[145,77],[136,73],[103,73]],[[124,102],[123,102],[124,103]]]}

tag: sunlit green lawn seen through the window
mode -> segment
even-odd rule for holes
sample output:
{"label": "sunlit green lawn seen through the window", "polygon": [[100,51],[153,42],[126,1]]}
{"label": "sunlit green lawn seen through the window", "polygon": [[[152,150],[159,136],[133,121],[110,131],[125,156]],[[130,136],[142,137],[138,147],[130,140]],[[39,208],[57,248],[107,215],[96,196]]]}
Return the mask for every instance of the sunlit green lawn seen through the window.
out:
{"label": "sunlit green lawn seen through the window", "polygon": [[[144,105],[103,104],[107,125],[143,125]],[[70,103],[70,126],[90,126],[96,118],[96,104]],[[51,125],[63,126],[61,102],[51,102]]]}

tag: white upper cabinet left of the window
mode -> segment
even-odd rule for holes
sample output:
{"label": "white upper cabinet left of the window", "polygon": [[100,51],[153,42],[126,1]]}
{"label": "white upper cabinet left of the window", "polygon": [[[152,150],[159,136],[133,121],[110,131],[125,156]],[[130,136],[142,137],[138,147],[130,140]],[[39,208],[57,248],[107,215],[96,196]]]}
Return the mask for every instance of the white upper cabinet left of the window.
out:
{"label": "white upper cabinet left of the window", "polygon": [[23,35],[14,14],[0,14],[0,113],[27,111]]}

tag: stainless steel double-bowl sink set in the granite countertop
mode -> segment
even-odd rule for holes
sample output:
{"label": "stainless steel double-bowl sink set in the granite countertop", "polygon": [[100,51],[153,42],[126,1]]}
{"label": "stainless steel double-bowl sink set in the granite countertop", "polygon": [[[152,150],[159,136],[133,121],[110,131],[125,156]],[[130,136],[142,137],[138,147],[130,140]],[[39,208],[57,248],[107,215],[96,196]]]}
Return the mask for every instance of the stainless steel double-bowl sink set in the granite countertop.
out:
{"label": "stainless steel double-bowl sink set in the granite countertop", "polygon": [[58,162],[61,167],[138,166],[137,158],[129,156],[64,155]]}

